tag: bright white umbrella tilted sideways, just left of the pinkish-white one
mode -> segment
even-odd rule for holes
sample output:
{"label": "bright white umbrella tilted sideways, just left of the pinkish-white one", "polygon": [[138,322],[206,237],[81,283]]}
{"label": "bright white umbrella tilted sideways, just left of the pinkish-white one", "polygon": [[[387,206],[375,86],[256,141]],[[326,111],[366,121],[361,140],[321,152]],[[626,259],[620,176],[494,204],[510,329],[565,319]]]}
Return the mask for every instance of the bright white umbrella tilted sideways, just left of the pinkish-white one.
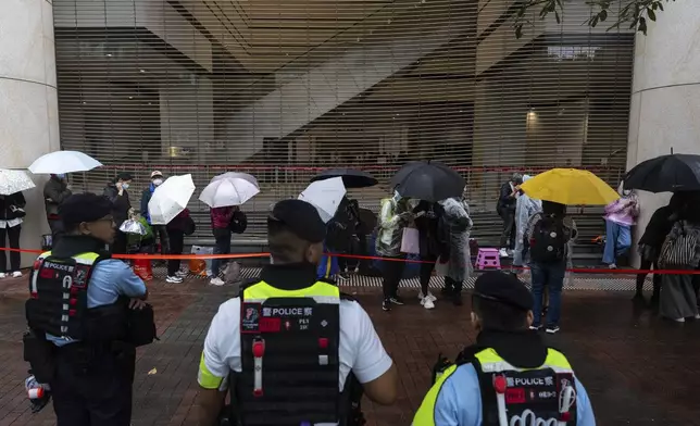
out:
{"label": "bright white umbrella tilted sideways, just left of the pinkish-white one", "polygon": [[171,176],[155,188],[148,202],[148,214],[151,224],[167,225],[187,208],[195,193],[192,175]]}

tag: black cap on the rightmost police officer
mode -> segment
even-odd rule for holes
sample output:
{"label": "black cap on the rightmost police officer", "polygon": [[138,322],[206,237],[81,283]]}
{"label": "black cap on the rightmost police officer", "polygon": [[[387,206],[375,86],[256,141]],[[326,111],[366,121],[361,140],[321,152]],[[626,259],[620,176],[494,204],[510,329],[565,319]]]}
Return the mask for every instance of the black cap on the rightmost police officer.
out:
{"label": "black cap on the rightmost police officer", "polygon": [[490,271],[482,274],[474,284],[474,297],[504,303],[530,311],[533,295],[514,274]]}

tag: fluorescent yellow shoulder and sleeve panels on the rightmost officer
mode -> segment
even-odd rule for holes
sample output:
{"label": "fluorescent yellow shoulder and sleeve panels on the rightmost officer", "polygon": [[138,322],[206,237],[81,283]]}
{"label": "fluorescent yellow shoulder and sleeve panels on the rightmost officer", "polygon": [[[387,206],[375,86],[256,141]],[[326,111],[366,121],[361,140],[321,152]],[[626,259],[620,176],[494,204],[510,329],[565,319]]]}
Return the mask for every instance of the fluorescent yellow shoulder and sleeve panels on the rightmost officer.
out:
{"label": "fluorescent yellow shoulder and sleeve panels on the rightmost officer", "polygon": [[[543,369],[552,368],[555,373],[573,373],[571,364],[561,352],[553,349],[547,350],[547,359],[545,363],[537,368],[517,368],[500,358],[493,349],[484,349],[476,353],[475,358],[482,365],[482,371],[485,373],[496,373],[503,371],[517,371],[524,372],[527,369]],[[436,426],[435,423],[435,405],[440,394],[442,384],[457,371],[458,365],[452,365],[445,371],[442,376],[433,385],[428,393],[423,399],[421,408],[415,413],[413,418],[413,426]]]}

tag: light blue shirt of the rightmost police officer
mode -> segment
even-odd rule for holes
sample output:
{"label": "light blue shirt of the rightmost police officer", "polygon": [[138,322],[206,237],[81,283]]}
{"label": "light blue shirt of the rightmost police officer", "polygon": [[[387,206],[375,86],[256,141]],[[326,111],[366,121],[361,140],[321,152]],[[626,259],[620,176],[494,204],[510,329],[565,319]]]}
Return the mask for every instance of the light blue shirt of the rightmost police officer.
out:
{"label": "light blue shirt of the rightmost police officer", "polygon": [[[577,426],[596,426],[586,389],[576,380]],[[464,364],[448,377],[435,402],[436,426],[482,425],[482,391],[474,365]],[[420,425],[415,425],[420,426]]]}

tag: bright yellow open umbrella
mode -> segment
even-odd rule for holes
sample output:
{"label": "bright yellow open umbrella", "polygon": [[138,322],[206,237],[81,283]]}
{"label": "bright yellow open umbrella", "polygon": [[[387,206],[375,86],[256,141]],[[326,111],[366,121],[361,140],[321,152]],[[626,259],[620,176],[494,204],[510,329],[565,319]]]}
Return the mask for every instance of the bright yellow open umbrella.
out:
{"label": "bright yellow open umbrella", "polygon": [[521,189],[538,200],[567,205],[607,205],[620,195],[600,177],[576,168],[552,168],[528,179]]}

